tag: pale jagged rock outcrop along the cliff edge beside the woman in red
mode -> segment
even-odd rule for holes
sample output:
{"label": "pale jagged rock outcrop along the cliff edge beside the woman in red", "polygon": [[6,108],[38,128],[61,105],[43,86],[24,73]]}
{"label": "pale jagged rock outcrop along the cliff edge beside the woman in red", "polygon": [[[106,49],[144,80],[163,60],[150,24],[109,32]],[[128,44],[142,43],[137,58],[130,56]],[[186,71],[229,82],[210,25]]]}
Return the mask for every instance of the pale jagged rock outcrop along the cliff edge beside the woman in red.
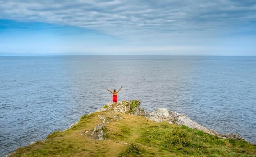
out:
{"label": "pale jagged rock outcrop along the cliff edge beside the woman in red", "polygon": [[190,118],[185,116],[184,114],[176,113],[175,111],[168,111],[166,108],[158,108],[152,112],[147,112],[144,108],[140,108],[139,100],[125,100],[121,101],[117,104],[116,108],[113,108],[112,102],[109,102],[107,105],[103,106],[101,109],[98,109],[96,112],[101,111],[113,111],[116,113],[128,113],[130,115],[138,115],[144,116],[151,121],[154,122],[168,122],[169,124],[178,124],[185,125],[189,128],[195,128],[197,130],[201,130],[205,133],[209,133],[211,135],[215,135],[221,138],[231,138],[238,140],[245,140],[242,136],[237,133],[228,133],[228,134],[220,134],[217,133],[216,130],[208,129],[200,124],[192,121]]}

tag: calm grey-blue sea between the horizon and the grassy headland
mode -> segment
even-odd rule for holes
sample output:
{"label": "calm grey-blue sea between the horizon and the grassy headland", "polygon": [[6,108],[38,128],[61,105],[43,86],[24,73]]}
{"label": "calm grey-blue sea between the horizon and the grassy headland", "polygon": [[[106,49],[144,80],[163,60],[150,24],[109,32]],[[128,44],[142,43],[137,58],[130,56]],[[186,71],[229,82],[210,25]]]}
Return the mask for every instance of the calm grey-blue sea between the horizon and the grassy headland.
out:
{"label": "calm grey-blue sea between the horizon and the grassy headland", "polygon": [[112,100],[139,99],[256,142],[256,57],[0,57],[0,156]]}

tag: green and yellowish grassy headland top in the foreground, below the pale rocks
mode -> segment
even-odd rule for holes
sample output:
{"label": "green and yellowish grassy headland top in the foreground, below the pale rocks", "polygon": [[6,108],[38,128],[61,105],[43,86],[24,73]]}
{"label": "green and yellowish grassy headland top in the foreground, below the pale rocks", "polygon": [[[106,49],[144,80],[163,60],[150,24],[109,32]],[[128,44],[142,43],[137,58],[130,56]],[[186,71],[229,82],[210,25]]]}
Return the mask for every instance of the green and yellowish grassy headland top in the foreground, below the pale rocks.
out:
{"label": "green and yellowish grassy headland top in the foreground, below the pale rocks", "polygon": [[[104,138],[96,140],[95,126],[103,117]],[[110,108],[83,115],[73,127],[18,148],[8,157],[256,157],[256,145]]]}

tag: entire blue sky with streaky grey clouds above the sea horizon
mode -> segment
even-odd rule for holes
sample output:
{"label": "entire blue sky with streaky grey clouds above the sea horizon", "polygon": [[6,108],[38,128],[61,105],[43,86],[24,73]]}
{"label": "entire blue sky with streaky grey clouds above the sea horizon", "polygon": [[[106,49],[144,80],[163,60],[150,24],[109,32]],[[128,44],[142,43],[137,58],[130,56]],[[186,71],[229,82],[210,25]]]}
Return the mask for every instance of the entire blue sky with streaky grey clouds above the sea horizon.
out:
{"label": "entire blue sky with streaky grey clouds above the sea horizon", "polygon": [[0,55],[256,55],[256,0],[0,0]]}

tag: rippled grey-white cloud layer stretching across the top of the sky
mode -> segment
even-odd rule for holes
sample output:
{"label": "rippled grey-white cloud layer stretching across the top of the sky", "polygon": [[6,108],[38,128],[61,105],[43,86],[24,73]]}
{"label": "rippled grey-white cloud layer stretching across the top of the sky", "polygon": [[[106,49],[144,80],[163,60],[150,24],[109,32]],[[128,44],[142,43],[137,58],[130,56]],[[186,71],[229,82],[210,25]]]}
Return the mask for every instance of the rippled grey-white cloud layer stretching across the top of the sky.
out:
{"label": "rippled grey-white cloud layer stretching across the top of the sky", "polygon": [[[238,0],[0,0],[0,18],[96,29],[113,35],[255,31],[256,2]],[[245,26],[252,25],[252,27]]]}

